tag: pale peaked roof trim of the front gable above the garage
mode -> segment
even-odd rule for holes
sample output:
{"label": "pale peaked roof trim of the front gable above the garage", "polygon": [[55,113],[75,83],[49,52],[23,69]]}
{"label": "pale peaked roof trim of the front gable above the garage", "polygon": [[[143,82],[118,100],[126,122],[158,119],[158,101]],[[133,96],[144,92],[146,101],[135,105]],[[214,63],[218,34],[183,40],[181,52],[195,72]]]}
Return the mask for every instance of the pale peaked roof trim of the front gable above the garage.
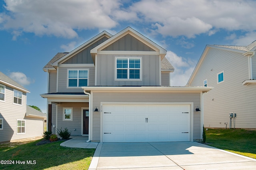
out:
{"label": "pale peaked roof trim of the front gable above the garage", "polygon": [[161,59],[163,59],[164,56],[166,55],[167,51],[164,48],[162,48],[159,45],[157,45],[156,43],[152,42],[151,40],[149,40],[148,38],[146,38],[145,36],[143,36],[139,32],[135,31],[134,29],[132,29],[130,27],[127,27],[124,30],[122,30],[122,31],[118,32],[117,34],[115,34],[114,36],[112,36],[111,38],[109,38],[108,40],[106,40],[105,42],[103,42],[100,45],[97,45],[96,47],[91,49],[91,54],[92,54],[93,60],[95,61],[95,54],[98,51],[101,51],[102,49],[104,49],[105,47],[110,45],[111,43],[116,42],[118,39],[122,38],[123,36],[125,36],[127,34],[130,34],[130,35],[134,36],[135,38],[137,38],[141,42],[148,45],[150,48],[157,51],[159,53],[159,55],[161,55]]}

